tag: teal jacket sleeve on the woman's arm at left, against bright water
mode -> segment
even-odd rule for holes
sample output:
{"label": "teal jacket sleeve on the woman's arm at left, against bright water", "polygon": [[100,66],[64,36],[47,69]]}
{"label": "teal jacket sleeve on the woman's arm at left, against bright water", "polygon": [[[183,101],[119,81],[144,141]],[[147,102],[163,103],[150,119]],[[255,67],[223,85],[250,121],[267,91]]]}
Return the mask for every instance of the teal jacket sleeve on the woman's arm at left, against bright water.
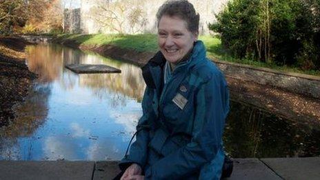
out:
{"label": "teal jacket sleeve on the woman's arm at left, against bright water", "polygon": [[143,95],[142,109],[143,115],[139,119],[137,125],[136,141],[130,146],[129,154],[123,157],[119,163],[119,168],[121,170],[126,170],[132,163],[137,163],[141,168],[146,166],[147,161],[147,150],[149,137],[148,119],[150,118],[150,110],[148,110],[148,101],[150,97],[148,96],[150,89],[147,87]]}

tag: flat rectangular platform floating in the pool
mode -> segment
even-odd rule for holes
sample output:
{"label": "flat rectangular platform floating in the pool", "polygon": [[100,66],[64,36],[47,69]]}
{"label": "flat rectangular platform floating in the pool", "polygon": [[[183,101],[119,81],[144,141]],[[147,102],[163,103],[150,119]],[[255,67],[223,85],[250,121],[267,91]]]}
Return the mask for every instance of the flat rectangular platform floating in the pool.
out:
{"label": "flat rectangular platform floating in the pool", "polygon": [[104,64],[68,64],[66,68],[77,74],[121,73],[121,70]]}

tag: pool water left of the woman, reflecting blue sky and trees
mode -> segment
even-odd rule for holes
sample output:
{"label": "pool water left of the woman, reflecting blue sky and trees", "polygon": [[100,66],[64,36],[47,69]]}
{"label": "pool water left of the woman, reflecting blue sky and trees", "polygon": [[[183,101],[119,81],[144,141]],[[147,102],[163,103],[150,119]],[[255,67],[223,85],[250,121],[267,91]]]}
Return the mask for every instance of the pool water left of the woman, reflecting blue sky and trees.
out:
{"label": "pool water left of the woman, reflecting blue sky and trees", "polygon": [[[141,70],[59,45],[27,51],[39,79],[1,131],[0,159],[121,159],[141,117]],[[121,74],[78,75],[64,68],[69,63],[107,64]]]}

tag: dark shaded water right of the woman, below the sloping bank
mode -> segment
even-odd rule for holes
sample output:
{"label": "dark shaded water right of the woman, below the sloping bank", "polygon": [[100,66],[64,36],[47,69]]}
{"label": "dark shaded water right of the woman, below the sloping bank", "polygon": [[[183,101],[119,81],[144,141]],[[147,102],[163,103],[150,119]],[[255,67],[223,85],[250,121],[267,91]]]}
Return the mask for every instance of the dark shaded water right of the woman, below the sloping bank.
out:
{"label": "dark shaded water right of the woman, below the sloping bank", "polygon": [[232,157],[320,155],[320,124],[312,127],[232,101],[224,142]]}

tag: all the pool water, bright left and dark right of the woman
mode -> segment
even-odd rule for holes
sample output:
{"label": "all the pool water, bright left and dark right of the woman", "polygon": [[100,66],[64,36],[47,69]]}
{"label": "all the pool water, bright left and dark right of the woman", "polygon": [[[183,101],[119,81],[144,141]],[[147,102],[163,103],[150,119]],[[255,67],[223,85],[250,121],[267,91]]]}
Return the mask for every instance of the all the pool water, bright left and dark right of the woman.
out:
{"label": "all the pool water, bright left and dark right of the woman", "polygon": [[[0,159],[121,159],[141,117],[140,68],[54,44],[27,51],[39,78],[0,130]],[[74,74],[68,63],[103,63],[121,74]],[[232,157],[319,156],[319,126],[231,104],[224,140]]]}

